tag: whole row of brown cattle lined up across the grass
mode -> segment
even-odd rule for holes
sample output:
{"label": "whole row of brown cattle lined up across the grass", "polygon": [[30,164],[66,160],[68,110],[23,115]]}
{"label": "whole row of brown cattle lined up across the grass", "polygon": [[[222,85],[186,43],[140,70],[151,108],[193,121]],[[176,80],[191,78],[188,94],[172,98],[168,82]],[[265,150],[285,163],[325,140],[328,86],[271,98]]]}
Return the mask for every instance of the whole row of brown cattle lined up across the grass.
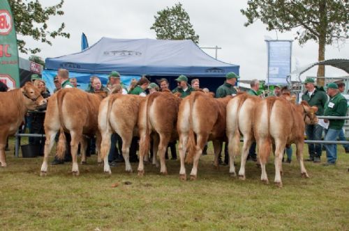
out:
{"label": "whole row of brown cattle lined up across the grass", "polygon": [[[181,99],[170,91],[156,92],[147,97],[139,95],[104,95],[86,93],[77,88],[61,89],[46,102],[31,83],[20,89],[0,93],[0,161],[6,166],[4,148],[6,138],[15,134],[28,110],[47,104],[45,116],[45,150],[40,175],[47,173],[47,161],[54,137],[60,131],[57,156],[63,157],[66,147],[64,132],[71,135],[73,175],[79,175],[77,148],[81,145],[81,161],[86,162],[86,136],[96,136],[98,162],[104,160],[104,172],[111,173],[107,154],[110,138],[119,134],[123,141],[122,154],[126,171],[132,172],[128,158],[133,136],[140,137],[138,175],[144,175],[144,161],[149,159],[149,147],[153,145],[152,163],[167,174],[165,151],[170,141],[179,140],[181,167],[179,175],[186,180],[185,161],[193,163],[190,178],[198,175],[198,162],[207,141],[214,145],[214,165],[218,166],[218,153],[223,141],[228,141],[230,174],[236,175],[234,159],[242,154],[239,178],[245,179],[248,149],[253,142],[258,145],[258,157],[262,170],[261,180],[268,182],[265,164],[270,152],[275,155],[275,180],[282,186],[282,158],[286,146],[295,143],[303,177],[308,177],[303,163],[304,126],[318,122],[316,107],[306,102],[295,104],[290,95],[260,97],[246,93],[224,98],[195,91]],[[242,150],[240,138],[243,136]]]}

